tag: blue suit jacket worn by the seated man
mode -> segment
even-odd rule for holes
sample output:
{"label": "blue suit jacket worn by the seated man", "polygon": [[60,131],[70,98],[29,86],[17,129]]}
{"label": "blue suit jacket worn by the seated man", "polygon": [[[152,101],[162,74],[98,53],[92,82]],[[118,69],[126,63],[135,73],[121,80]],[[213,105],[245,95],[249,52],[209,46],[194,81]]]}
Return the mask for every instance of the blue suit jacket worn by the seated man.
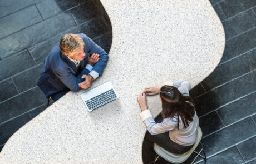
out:
{"label": "blue suit jacket worn by the seated man", "polygon": [[86,56],[85,59],[80,62],[81,69],[77,70],[75,63],[70,61],[67,56],[61,53],[59,44],[54,46],[45,58],[43,68],[40,72],[41,75],[37,79],[37,85],[45,93],[46,98],[58,93],[63,96],[70,90],[80,90],[78,83],[85,81],[84,78],[81,78],[82,75],[90,73],[90,71],[85,68],[89,53],[97,53],[100,55],[100,60],[92,68],[92,70],[96,71],[100,75],[107,64],[108,56],[104,49],[95,44],[85,34],[81,33],[77,35],[83,39],[83,42],[85,42],[84,52]]}

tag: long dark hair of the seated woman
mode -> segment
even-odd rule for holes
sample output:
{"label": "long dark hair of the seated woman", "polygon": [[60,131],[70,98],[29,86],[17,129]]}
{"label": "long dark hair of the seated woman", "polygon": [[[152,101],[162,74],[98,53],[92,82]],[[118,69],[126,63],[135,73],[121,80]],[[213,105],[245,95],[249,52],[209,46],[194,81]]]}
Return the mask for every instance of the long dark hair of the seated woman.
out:
{"label": "long dark hair of the seated woman", "polygon": [[173,86],[163,86],[160,90],[160,97],[162,100],[162,117],[177,116],[179,129],[180,118],[183,122],[184,128],[189,126],[189,121],[193,121],[195,115],[195,104],[191,97],[183,96],[180,91]]}

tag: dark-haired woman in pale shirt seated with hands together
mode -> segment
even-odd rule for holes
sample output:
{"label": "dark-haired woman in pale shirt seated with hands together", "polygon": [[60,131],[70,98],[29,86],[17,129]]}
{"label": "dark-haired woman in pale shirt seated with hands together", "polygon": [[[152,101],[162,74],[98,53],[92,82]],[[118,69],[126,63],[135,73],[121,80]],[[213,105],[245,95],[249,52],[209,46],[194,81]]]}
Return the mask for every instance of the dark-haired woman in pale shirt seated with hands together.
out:
{"label": "dark-haired woman in pale shirt seated with hands together", "polygon": [[[180,80],[174,81],[170,86],[147,87],[140,93],[138,96],[142,111],[140,116],[148,130],[145,135],[146,141],[155,142],[165,150],[178,154],[188,152],[193,147],[199,120],[194,101],[189,97],[189,90],[189,81]],[[146,95],[158,93],[162,102],[162,112],[159,119],[154,121],[147,108]]]}

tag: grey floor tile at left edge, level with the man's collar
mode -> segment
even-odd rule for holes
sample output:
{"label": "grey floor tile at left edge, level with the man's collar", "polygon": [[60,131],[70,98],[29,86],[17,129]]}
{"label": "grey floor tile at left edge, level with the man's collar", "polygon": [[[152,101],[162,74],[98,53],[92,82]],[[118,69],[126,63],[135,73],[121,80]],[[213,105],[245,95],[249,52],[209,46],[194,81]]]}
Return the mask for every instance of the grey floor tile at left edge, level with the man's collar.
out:
{"label": "grey floor tile at left edge, level with the man's collar", "polygon": [[14,74],[24,71],[32,66],[35,66],[35,63],[28,51],[3,59],[0,61],[0,80],[13,76]]}

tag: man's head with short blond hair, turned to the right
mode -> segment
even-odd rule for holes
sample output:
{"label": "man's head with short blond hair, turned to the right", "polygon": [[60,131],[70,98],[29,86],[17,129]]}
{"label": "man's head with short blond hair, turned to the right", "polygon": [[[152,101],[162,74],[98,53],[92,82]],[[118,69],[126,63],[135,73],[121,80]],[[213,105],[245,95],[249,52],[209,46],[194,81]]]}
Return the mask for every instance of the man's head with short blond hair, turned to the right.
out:
{"label": "man's head with short blond hair, turned to the right", "polygon": [[84,44],[83,40],[77,34],[68,33],[61,37],[59,47],[62,54],[82,61],[85,58],[85,52],[83,51]]}

